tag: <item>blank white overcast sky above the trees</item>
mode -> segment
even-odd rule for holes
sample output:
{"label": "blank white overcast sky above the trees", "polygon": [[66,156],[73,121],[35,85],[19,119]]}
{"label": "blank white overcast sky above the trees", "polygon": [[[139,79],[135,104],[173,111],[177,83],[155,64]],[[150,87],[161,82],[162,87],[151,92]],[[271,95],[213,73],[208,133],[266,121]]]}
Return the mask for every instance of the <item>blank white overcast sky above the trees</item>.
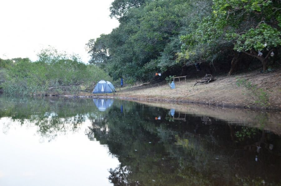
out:
{"label": "blank white overcast sky above the trees", "polygon": [[0,58],[29,57],[48,45],[89,60],[85,44],[118,26],[113,0],[1,0]]}

